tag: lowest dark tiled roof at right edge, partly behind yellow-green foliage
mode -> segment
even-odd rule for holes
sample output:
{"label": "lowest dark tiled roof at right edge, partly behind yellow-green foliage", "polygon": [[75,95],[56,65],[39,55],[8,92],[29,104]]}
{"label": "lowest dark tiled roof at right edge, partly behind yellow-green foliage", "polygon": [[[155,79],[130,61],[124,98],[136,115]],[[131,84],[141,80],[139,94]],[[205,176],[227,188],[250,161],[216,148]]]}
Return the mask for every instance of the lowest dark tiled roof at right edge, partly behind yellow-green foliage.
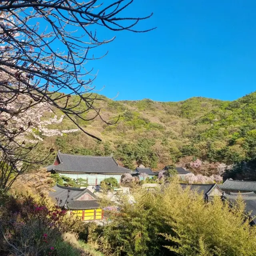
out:
{"label": "lowest dark tiled roof at right edge, partly behind yellow-green foliage", "polygon": [[[230,193],[230,195],[226,194],[225,196],[230,202],[235,203],[236,199],[238,198],[238,194],[240,194],[244,200],[246,212],[250,213],[252,218],[256,216],[256,194],[254,192]],[[256,219],[254,219],[252,222],[256,224]]]}

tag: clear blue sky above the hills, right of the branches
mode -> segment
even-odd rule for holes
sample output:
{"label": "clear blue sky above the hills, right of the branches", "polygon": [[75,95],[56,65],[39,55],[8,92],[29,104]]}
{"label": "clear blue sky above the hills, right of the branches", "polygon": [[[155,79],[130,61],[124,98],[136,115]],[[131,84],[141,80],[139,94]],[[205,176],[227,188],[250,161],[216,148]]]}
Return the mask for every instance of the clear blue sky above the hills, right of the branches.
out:
{"label": "clear blue sky above the hills, right of the branches", "polygon": [[[138,29],[117,32],[108,55],[90,62],[94,85],[116,100],[234,100],[256,90],[256,2],[251,0],[134,0],[123,16],[154,12]],[[113,33],[98,31],[100,38]]]}

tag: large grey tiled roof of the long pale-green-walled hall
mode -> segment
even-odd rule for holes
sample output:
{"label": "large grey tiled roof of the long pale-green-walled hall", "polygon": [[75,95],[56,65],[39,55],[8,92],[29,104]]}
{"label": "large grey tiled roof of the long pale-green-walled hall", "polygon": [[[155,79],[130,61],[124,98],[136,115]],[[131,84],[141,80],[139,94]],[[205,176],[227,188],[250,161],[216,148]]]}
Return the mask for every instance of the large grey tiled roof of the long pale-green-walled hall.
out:
{"label": "large grey tiled roof of the long pale-green-walled hall", "polygon": [[127,173],[131,170],[118,166],[112,156],[79,156],[57,154],[60,164],[54,166],[56,172],[74,173]]}

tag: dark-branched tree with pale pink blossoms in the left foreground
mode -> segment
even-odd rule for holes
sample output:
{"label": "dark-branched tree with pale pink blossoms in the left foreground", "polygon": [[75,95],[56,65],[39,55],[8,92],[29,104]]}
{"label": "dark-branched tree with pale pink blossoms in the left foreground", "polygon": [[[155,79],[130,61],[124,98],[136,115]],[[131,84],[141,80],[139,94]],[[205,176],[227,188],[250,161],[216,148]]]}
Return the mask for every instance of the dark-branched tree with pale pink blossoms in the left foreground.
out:
{"label": "dark-branched tree with pale pink blossoms in the left foreground", "polygon": [[[134,29],[152,14],[122,17],[132,2],[0,1],[0,189],[8,190],[28,164],[42,160],[29,158],[42,139],[38,132],[50,136],[76,130],[50,130],[46,127],[49,122],[61,122],[65,116],[77,129],[100,140],[78,123],[79,119],[98,116],[110,124],[95,107],[94,102],[102,99],[92,94],[96,74],[87,63],[105,56],[94,55],[98,52],[95,48],[115,39],[102,38],[97,28],[112,32],[152,30]],[[72,95],[78,98],[76,103],[70,102]],[[61,112],[62,116],[43,121],[44,111]],[[86,112],[94,114],[86,118]]]}

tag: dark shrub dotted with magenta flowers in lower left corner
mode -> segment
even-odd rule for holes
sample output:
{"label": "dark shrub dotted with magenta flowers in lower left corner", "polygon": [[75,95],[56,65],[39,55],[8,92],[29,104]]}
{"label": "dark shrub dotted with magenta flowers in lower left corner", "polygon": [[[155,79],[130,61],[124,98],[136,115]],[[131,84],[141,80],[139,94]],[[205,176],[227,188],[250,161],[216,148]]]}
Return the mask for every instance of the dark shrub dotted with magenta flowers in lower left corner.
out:
{"label": "dark shrub dotted with magenta flowers in lower left corner", "polygon": [[9,253],[1,255],[55,256],[62,255],[63,250],[65,255],[80,255],[62,239],[65,232],[78,230],[80,220],[44,198],[37,203],[30,196],[6,196],[0,216],[0,251]]}

